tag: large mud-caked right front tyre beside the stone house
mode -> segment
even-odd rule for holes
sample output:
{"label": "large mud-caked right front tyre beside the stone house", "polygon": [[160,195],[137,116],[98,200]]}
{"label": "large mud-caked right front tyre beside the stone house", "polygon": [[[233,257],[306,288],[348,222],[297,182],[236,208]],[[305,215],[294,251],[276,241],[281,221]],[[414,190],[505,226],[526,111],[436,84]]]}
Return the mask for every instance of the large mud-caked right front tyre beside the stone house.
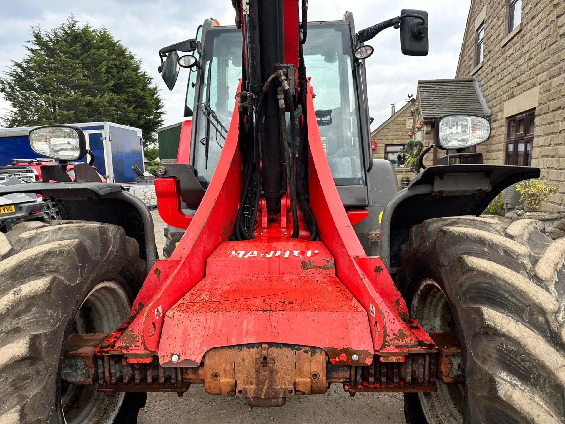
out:
{"label": "large mud-caked right front tyre beside the stone house", "polygon": [[565,422],[565,239],[541,230],[492,215],[412,228],[398,288],[425,330],[459,336],[465,384],[405,394],[407,421]]}

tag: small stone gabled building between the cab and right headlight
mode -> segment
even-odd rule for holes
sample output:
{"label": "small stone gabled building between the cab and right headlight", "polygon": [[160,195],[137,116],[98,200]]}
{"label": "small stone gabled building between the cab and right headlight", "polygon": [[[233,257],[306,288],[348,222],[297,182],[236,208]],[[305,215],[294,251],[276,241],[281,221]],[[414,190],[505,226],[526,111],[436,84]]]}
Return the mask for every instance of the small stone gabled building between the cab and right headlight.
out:
{"label": "small stone gabled building between the cab and right headlight", "polygon": [[400,151],[410,140],[410,131],[412,129],[412,121],[414,120],[414,107],[416,99],[412,98],[406,105],[402,106],[389,119],[380,124],[380,126],[371,133],[371,140],[375,141],[373,145],[373,158],[388,159],[394,166],[398,184],[401,184],[402,177],[412,178],[414,173],[398,161]]}

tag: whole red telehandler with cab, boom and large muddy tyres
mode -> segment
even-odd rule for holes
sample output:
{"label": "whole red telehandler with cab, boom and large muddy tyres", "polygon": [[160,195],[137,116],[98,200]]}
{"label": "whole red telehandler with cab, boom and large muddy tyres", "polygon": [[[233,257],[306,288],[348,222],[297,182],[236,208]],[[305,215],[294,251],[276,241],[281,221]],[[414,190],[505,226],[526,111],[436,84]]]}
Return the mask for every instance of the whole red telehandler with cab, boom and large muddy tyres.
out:
{"label": "whole red telehandler with cab, boom and large muddy tyres", "polygon": [[349,12],[308,22],[306,0],[233,6],[234,27],[206,20],[159,51],[169,88],[191,68],[195,112],[155,180],[186,230],[168,258],[132,194],[58,179],[85,154],[80,128],[31,132],[60,164],[25,191],[66,219],[0,233],[0,422],[133,423],[147,392],[190,384],[250,406],[403,392],[411,423],[563,422],[565,243],[480,216],[540,171],[465,153],[490,125],[464,114],[436,122],[456,153],[392,196],[372,159],[365,42],[395,27],[404,54],[427,54],[427,14],[356,32]]}

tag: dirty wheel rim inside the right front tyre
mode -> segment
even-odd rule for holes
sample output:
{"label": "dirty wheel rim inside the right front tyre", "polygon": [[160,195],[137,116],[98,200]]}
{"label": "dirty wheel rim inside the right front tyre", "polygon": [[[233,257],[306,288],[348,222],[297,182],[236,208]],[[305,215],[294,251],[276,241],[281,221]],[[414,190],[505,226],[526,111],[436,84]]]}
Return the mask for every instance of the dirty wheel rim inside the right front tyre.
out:
{"label": "dirty wheel rim inside the right front tyre", "polygon": [[[425,331],[457,334],[451,308],[440,286],[431,279],[422,280],[412,298],[410,315]],[[444,384],[437,380],[436,393],[418,393],[418,399],[429,424],[462,423],[465,414],[465,392],[462,384]]]}

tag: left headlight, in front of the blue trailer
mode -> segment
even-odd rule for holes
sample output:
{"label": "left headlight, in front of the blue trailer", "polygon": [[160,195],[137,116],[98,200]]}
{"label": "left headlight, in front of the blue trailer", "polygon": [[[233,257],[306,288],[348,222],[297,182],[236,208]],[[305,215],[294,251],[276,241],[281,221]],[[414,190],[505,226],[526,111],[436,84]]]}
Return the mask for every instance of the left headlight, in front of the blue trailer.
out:
{"label": "left headlight, in front of the blue trailer", "polygon": [[82,129],[69,125],[47,125],[29,132],[29,146],[35,153],[59,159],[78,161],[86,153]]}

